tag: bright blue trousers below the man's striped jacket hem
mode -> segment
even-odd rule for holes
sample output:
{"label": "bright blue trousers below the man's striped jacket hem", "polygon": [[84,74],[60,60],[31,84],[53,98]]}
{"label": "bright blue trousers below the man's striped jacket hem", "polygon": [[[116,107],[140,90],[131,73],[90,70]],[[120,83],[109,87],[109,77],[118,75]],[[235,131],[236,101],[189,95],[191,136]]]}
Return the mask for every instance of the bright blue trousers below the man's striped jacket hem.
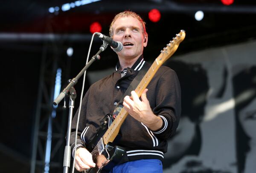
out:
{"label": "bright blue trousers below the man's striped jacket hem", "polygon": [[158,159],[142,159],[116,165],[109,173],[163,173],[163,164]]}

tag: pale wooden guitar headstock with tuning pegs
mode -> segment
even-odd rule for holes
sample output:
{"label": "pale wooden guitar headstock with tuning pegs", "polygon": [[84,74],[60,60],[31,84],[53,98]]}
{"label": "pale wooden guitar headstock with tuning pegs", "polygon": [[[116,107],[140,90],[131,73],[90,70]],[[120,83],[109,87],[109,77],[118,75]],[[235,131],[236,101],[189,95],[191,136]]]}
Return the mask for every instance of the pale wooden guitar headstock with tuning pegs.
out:
{"label": "pale wooden guitar headstock with tuning pegs", "polygon": [[185,36],[185,31],[180,30],[180,33],[176,34],[176,37],[172,38],[170,43],[167,44],[163,50],[161,50],[161,54],[157,57],[158,63],[163,64],[166,60],[168,60],[172,54],[175,53],[180,43],[184,40]]}

